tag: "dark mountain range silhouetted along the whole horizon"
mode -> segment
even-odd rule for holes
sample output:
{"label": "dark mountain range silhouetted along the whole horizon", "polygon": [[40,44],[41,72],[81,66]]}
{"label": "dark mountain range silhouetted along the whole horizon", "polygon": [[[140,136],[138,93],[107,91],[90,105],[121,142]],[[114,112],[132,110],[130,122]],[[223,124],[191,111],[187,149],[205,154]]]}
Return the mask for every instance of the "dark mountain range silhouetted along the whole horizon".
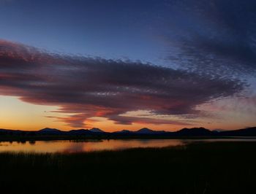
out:
{"label": "dark mountain range silhouetted along the whole horizon", "polygon": [[21,131],[21,130],[10,130],[0,129],[1,134],[39,134],[39,135],[71,135],[71,136],[256,136],[256,127],[243,128],[233,131],[211,131],[207,128],[182,128],[179,131],[154,131],[149,128],[140,128],[138,131],[115,131],[105,132],[99,128],[91,129],[77,129],[70,131],[61,131],[57,128],[42,128],[39,131]]}

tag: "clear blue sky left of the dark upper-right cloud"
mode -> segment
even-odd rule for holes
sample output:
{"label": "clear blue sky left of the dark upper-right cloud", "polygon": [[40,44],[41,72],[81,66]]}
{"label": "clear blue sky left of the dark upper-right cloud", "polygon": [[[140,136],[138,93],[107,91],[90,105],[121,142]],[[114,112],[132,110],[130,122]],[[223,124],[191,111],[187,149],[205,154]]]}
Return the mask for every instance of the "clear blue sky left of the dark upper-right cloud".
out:
{"label": "clear blue sky left of the dark upper-right cloud", "polygon": [[64,53],[157,60],[159,1],[4,1],[2,39]]}

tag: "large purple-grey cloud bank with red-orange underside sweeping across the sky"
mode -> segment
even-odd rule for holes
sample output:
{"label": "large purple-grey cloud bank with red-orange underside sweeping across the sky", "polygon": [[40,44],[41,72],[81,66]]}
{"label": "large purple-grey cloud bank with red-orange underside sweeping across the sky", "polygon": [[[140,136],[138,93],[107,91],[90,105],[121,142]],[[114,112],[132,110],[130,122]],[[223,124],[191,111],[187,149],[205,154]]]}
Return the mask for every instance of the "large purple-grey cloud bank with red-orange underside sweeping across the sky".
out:
{"label": "large purple-grey cloud bank with red-orange underside sweeping across the sky", "polygon": [[121,116],[146,110],[154,115],[200,115],[195,106],[240,93],[237,79],[197,74],[162,66],[104,58],[47,53],[0,41],[0,95],[19,96],[32,104],[57,105],[56,117],[83,127],[90,117],[118,124],[185,125],[176,120]]}

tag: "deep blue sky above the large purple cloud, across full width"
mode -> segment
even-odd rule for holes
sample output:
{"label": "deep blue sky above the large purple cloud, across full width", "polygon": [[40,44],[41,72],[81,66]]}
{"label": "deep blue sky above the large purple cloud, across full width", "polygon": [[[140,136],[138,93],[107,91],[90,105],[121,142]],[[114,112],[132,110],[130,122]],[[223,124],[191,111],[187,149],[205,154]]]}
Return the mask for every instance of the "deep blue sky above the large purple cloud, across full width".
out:
{"label": "deep blue sky above the large purple cloud, across full width", "polygon": [[[251,0],[2,0],[0,37],[165,66],[180,66],[191,55],[193,65],[217,58],[255,66],[255,9]],[[178,62],[170,60],[178,55]]]}

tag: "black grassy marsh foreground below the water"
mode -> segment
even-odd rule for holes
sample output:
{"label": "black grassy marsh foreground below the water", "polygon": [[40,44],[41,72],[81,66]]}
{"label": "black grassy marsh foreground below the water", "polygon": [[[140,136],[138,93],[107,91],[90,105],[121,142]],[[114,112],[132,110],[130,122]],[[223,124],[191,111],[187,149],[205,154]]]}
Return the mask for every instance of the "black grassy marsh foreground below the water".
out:
{"label": "black grassy marsh foreground below the water", "polygon": [[256,142],[0,154],[0,193],[256,193]]}

